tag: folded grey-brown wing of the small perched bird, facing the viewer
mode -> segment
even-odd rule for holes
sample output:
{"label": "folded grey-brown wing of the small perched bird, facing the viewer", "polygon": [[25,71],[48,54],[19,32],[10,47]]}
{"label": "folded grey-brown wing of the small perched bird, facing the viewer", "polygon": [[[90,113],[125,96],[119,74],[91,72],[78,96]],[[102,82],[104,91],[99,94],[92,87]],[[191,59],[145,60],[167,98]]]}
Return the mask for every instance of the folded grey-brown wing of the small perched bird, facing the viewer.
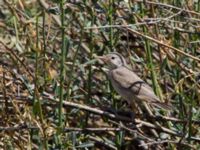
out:
{"label": "folded grey-brown wing of the small perched bird, facing the viewer", "polygon": [[132,90],[139,99],[159,101],[152,88],[126,67],[120,67],[112,71],[112,77],[122,88]]}

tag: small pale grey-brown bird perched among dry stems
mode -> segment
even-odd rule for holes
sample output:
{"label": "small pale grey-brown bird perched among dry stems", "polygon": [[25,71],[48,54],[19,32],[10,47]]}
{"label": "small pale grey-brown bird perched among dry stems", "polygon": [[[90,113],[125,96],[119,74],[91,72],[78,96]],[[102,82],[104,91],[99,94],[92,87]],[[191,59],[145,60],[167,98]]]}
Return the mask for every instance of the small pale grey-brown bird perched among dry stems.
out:
{"label": "small pale grey-brown bird perched among dry stems", "polygon": [[125,58],[117,52],[98,57],[108,66],[108,78],[116,92],[128,103],[147,102],[150,105],[171,110],[172,106],[160,102],[153,89],[128,68]]}

